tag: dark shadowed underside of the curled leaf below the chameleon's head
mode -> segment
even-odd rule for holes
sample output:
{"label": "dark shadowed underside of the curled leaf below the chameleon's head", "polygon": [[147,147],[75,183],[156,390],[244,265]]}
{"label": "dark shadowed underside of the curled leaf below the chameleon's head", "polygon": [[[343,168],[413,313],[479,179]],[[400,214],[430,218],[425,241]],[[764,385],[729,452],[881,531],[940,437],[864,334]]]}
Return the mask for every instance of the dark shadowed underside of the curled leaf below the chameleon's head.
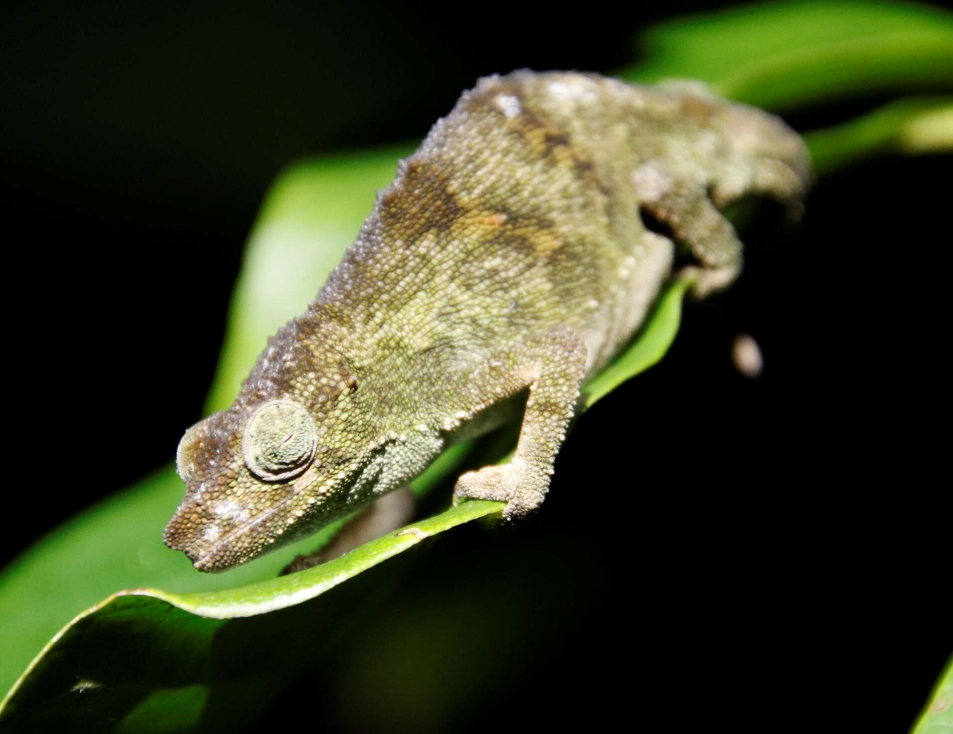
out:
{"label": "dark shadowed underside of the curled leaf below the chameleon's head", "polygon": [[144,590],[120,592],[36,659],[5,702],[0,729],[245,730],[250,712],[367,624],[396,580],[393,568],[379,569],[386,573],[365,571],[320,603],[232,620],[199,617]]}

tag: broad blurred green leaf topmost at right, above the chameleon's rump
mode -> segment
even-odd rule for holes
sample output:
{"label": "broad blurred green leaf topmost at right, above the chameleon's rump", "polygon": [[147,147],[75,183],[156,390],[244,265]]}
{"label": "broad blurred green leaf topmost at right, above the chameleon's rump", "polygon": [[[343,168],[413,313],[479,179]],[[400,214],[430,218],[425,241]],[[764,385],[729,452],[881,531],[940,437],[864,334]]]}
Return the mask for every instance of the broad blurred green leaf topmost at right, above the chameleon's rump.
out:
{"label": "broad blurred green leaf topmost at right, above the chameleon's rump", "polygon": [[911,3],[765,3],[663,23],[630,81],[693,78],[773,110],[953,86],[953,14]]}

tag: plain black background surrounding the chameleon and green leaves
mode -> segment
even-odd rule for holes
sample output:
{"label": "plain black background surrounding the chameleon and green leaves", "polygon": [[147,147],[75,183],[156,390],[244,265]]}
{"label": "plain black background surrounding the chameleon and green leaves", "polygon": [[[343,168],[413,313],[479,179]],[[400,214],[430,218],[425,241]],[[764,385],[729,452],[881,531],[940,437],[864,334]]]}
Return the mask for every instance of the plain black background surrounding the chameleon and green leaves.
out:
{"label": "plain black background surrounding the chameleon and green leaves", "polygon": [[[638,57],[640,27],[716,5],[7,6],[5,387],[25,438],[7,462],[0,561],[172,458],[285,164],[419,137],[481,74],[612,71]],[[789,120],[808,130],[885,98]],[[869,161],[823,180],[800,227],[760,216],[737,287],[689,307],[663,363],[579,421],[540,517],[418,558],[405,599],[468,554],[482,554],[475,574],[502,573],[546,539],[585,546],[560,570],[588,579],[567,586],[584,599],[567,600],[566,634],[524,648],[538,658],[524,678],[422,729],[538,712],[539,725],[766,731],[843,716],[905,730],[953,649],[950,163]],[[757,380],[731,366],[739,333],[760,343]],[[574,557],[600,559],[598,573]],[[274,711],[306,696],[325,712],[315,724],[360,730],[314,693],[332,676]]]}

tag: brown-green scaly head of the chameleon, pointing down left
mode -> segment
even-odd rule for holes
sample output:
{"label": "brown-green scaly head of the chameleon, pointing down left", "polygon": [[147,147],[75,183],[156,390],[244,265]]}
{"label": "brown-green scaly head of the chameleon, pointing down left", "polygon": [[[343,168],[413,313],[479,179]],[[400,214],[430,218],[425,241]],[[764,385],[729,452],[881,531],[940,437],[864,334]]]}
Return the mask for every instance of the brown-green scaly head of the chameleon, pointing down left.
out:
{"label": "brown-green scaly head of the chameleon, pointing down left", "polygon": [[[373,454],[355,378],[329,367],[326,354],[322,365],[306,340],[283,336],[233,405],[179,442],[176,463],[187,491],[164,540],[200,571],[250,561],[366,499],[352,491]],[[283,345],[287,351],[275,349]]]}

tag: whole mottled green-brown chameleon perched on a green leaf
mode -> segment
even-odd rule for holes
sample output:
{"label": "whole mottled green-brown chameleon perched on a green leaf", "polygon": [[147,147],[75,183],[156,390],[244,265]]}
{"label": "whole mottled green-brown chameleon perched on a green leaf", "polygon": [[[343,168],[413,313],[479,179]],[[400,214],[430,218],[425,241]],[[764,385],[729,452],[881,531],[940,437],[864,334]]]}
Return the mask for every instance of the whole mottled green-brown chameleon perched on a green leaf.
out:
{"label": "whole mottled green-brown chameleon perched on a green leaf", "polygon": [[400,162],[233,405],[182,438],[188,489],[166,544],[203,571],[249,561],[520,414],[512,461],[462,475],[455,499],[529,514],[580,385],[639,328],[676,243],[696,295],[721,288],[741,244],[720,210],[748,194],[797,203],[809,177],[779,118],[700,84],[480,79]]}

